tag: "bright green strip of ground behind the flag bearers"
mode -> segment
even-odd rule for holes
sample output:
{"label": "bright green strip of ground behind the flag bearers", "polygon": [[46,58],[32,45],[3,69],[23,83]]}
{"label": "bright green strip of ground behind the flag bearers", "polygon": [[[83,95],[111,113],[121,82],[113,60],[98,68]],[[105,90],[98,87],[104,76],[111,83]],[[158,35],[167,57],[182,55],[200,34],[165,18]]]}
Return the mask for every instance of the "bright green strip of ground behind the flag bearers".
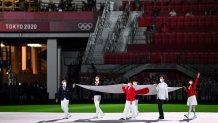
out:
{"label": "bright green strip of ground behind the flag bearers", "polygon": [[[60,113],[60,104],[48,105],[1,105],[0,112],[57,112]],[[101,109],[106,113],[123,112],[124,104],[101,104]],[[165,112],[187,112],[186,104],[164,104]],[[139,104],[140,112],[157,112],[157,104]],[[196,107],[197,112],[218,112],[218,105],[199,104]],[[70,104],[69,112],[72,113],[93,113],[95,112],[94,104]]]}

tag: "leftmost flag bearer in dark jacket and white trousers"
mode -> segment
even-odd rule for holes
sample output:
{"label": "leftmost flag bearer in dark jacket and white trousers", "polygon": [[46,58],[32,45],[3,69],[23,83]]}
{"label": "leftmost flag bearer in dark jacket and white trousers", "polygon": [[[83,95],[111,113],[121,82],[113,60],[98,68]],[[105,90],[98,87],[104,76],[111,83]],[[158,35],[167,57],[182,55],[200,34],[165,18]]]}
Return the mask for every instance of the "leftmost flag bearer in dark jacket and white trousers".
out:
{"label": "leftmost flag bearer in dark jacket and white trousers", "polygon": [[61,109],[63,110],[65,115],[64,118],[66,119],[71,117],[71,115],[68,112],[68,105],[69,100],[71,99],[71,93],[72,91],[70,89],[70,86],[67,84],[67,81],[63,80],[58,91],[58,98],[56,99],[56,102],[58,102],[58,100],[61,101]]}

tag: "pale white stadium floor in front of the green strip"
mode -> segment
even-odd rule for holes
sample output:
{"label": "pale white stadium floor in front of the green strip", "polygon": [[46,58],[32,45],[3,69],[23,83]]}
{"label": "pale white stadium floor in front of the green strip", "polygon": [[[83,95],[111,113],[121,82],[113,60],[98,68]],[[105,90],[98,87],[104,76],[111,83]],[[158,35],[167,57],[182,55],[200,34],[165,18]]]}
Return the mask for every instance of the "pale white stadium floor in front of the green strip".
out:
{"label": "pale white stadium floor in front of the green strip", "polygon": [[0,112],[1,123],[71,123],[71,122],[93,122],[93,123],[217,123],[218,113],[197,113],[197,118],[187,120],[184,112],[166,112],[164,120],[158,120],[157,112],[139,113],[136,120],[119,120],[122,113],[105,113],[104,118],[92,119],[94,113],[71,113],[69,119],[62,119],[63,113],[39,113],[39,112]]}

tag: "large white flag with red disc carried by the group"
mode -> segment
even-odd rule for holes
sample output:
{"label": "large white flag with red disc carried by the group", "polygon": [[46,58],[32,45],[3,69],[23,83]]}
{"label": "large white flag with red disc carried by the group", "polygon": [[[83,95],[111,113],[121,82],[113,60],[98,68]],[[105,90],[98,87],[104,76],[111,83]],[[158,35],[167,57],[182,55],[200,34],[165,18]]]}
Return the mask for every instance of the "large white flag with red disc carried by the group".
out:
{"label": "large white flag with red disc carried by the group", "polygon": [[[115,84],[115,85],[104,85],[104,86],[92,86],[92,85],[81,85],[76,84],[82,88],[92,90],[92,91],[99,91],[104,93],[113,93],[119,94],[124,93],[122,90],[122,86],[127,86],[126,84]],[[154,85],[134,85],[137,95],[156,95],[157,89]],[[168,87],[168,92],[175,91],[181,89],[182,87]]]}

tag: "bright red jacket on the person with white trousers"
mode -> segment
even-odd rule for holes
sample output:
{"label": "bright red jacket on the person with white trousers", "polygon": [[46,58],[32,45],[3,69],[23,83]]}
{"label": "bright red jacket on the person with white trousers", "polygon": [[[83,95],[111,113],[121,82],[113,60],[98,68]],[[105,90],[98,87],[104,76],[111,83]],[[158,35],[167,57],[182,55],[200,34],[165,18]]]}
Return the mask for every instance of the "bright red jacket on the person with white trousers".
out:
{"label": "bright red jacket on the person with white trousers", "polygon": [[134,87],[122,87],[123,92],[126,93],[126,100],[127,101],[134,101],[135,100],[135,88]]}

